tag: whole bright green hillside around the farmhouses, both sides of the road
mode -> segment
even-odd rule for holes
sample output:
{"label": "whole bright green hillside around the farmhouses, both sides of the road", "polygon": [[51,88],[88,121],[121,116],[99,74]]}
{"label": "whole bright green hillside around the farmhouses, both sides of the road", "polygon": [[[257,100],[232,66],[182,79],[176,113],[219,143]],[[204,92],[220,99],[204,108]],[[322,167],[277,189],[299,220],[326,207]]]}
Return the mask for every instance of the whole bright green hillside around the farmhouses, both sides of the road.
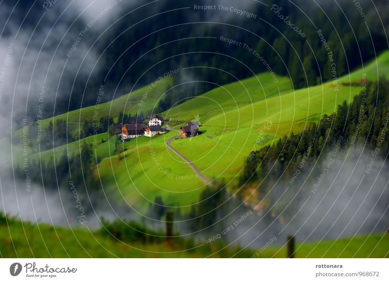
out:
{"label": "whole bright green hillside around the farmhouses, both sides of the road", "polygon": [[[187,139],[176,139],[172,146],[191,161],[204,175],[212,179],[235,184],[239,172],[251,150],[290,133],[302,132],[324,114],[331,114],[344,100],[349,102],[362,90],[362,77],[367,81],[377,79],[378,73],[389,70],[389,51],[376,61],[339,78],[337,85],[322,85],[293,90],[288,78],[278,76],[273,83],[268,73],[215,88],[192,100],[179,104],[162,115],[170,125],[199,119],[203,134]],[[388,73],[388,72],[386,72]],[[124,109],[126,100],[131,101],[131,111],[152,109],[156,100],[166,90],[170,79],[158,83],[140,109],[137,101],[145,89],[142,87],[111,102],[100,104],[101,116],[111,113],[117,116]],[[128,104],[128,103],[127,103]],[[48,123],[56,118],[78,122],[93,116],[93,106],[43,120]],[[81,117],[81,118],[80,118]],[[20,130],[19,130],[20,134]],[[195,172],[172,150],[166,141],[177,135],[171,131],[152,138],[139,138],[121,143],[124,153],[116,155],[115,140],[107,140],[107,134],[96,137],[93,146],[95,157],[101,161],[94,165],[95,177],[118,201],[124,201],[145,213],[157,196],[167,206],[190,208],[204,189],[204,183]],[[54,149],[41,152],[41,158],[60,157],[64,150],[68,155],[77,154],[84,140],[91,144],[93,136]],[[104,142],[102,142],[102,140]],[[15,148],[17,149],[17,148]],[[16,154],[15,160],[22,161]],[[39,158],[39,154],[32,155]]]}

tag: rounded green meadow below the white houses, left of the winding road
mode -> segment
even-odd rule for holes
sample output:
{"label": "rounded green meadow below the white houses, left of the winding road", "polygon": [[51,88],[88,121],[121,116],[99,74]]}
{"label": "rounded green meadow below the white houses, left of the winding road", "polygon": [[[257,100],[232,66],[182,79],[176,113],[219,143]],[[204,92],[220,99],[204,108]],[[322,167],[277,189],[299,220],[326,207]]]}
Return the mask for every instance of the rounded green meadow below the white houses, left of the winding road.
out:
{"label": "rounded green meadow below the white houses, left of the winding road", "polygon": [[164,204],[187,209],[199,198],[204,184],[195,172],[166,146],[177,132],[141,136],[124,142],[124,153],[105,158],[97,165],[96,177],[103,186],[140,212],[146,212],[155,197]]}

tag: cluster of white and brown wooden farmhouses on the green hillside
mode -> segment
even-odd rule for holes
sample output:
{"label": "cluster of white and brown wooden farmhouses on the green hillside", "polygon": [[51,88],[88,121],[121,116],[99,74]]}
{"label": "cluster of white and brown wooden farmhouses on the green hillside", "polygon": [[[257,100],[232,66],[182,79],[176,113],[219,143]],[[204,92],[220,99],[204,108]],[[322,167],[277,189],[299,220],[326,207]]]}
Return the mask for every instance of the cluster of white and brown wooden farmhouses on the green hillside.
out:
{"label": "cluster of white and brown wooden farmhouses on the green hillside", "polygon": [[[167,130],[162,128],[165,121],[162,116],[154,114],[148,117],[147,125],[140,121],[137,117],[130,117],[127,124],[114,123],[114,131],[122,137],[123,142],[131,138],[137,138],[142,135],[153,137],[157,134],[166,133]],[[199,130],[198,121],[187,121],[185,126],[180,128],[182,138],[194,137],[202,132]]]}

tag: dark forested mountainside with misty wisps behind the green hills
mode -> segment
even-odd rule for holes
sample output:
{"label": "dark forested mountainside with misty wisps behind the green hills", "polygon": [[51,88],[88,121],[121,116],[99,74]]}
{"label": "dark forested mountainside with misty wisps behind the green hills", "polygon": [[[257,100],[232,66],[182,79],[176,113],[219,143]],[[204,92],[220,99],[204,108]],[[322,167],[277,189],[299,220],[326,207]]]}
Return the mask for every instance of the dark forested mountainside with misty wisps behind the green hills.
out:
{"label": "dark forested mountainside with misty wisps behind the green hills", "polygon": [[[295,88],[332,79],[331,62],[327,58],[329,51],[334,55],[336,76],[339,77],[360,66],[362,62],[372,59],[375,52],[388,46],[382,29],[381,32],[376,32],[366,28],[365,20],[369,26],[381,25],[379,18],[370,16],[376,11],[374,5],[369,5],[368,1],[361,1],[365,4],[364,20],[361,20],[358,14],[355,15],[348,1],[338,3],[342,9],[333,9],[333,4],[325,1],[319,1],[318,4],[306,1],[292,3],[287,0],[263,2],[268,6],[254,1],[251,4],[234,3],[237,8],[243,6],[242,9],[255,14],[256,19],[239,16],[230,11],[195,11],[189,4],[188,8],[184,9],[181,2],[173,0],[151,3],[136,12],[131,12],[138,7],[137,5],[141,6],[147,2],[138,1],[135,4],[122,2],[122,6],[106,13],[104,18],[88,29],[88,33],[83,36],[75,51],[75,54],[80,52],[81,55],[93,44],[93,52],[88,56],[93,55],[92,61],[96,65],[89,64],[88,57],[80,60],[79,57],[72,55],[61,76],[61,85],[57,89],[60,93],[56,95],[55,109],[48,104],[45,105],[43,117],[95,104],[98,91],[96,85],[102,83],[105,85],[102,101],[107,101],[111,100],[113,95],[116,98],[131,89],[147,85],[177,67],[180,71],[174,75],[175,84],[190,83],[179,91],[169,91],[159,102],[160,111],[166,110],[182,98],[197,96],[211,90],[217,84],[223,85],[267,71],[267,67],[253,55],[253,51],[243,48],[243,44],[234,46],[223,42],[219,40],[220,36],[240,41],[256,50],[276,74],[290,76]],[[383,8],[387,4],[386,1],[375,2],[378,12],[385,11]],[[20,9],[12,14],[9,20],[14,24],[6,26],[5,35],[12,34],[13,29],[17,30],[20,24],[23,32],[32,33],[33,27],[44,12],[40,5],[31,8],[30,1],[22,0],[20,3],[26,10]],[[5,4],[12,7],[13,2],[5,1]],[[199,0],[196,4],[209,4],[209,1]],[[272,5],[282,8],[278,14],[275,13],[277,10],[271,10]],[[27,14],[30,8],[31,11]],[[52,14],[59,15],[65,8],[66,5],[58,1],[51,8],[51,13],[45,16],[48,17],[45,21],[47,25],[52,24],[53,19],[50,17]],[[166,17],[167,11],[169,17]],[[18,17],[23,15],[22,13],[27,15],[24,19]],[[290,23],[300,27],[304,37],[296,33],[280,15],[288,17]],[[70,26],[69,33],[63,40],[54,38],[55,33],[50,34],[51,40],[44,42],[42,50],[54,51],[57,48],[56,44],[59,44],[60,50],[66,54],[77,37],[74,35],[88,27],[90,18],[84,14],[76,18],[77,13],[70,10],[66,11],[65,16],[58,20],[55,28]],[[384,15],[382,16],[384,18]],[[72,22],[73,20],[75,21]],[[40,38],[35,38],[47,28],[42,23],[43,21],[37,25],[31,38],[32,42],[36,40],[37,43],[42,43]],[[111,23],[112,26],[105,31]],[[330,50],[325,50],[318,31],[323,34]],[[49,54],[53,55],[50,52]],[[61,56],[56,55],[55,59],[57,57]],[[99,60],[95,60],[96,58]],[[64,62],[65,60],[62,63]],[[75,73],[74,70],[78,67],[81,67],[81,70],[86,69]],[[184,70],[185,67],[192,68]],[[53,80],[54,84],[55,82]],[[52,89],[47,89],[47,101],[49,96],[53,96],[48,95],[49,90]],[[33,101],[29,106],[34,111],[28,112],[35,113]],[[34,120],[36,116],[33,115],[31,118]]]}

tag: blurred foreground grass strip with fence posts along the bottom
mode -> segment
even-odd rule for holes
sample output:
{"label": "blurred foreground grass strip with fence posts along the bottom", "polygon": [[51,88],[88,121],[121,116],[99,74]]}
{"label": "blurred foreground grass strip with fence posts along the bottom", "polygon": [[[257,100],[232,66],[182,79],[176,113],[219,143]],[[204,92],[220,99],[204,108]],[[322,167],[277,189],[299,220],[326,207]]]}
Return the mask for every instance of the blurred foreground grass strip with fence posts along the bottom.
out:
{"label": "blurred foreground grass strip with fence posts along the bottom", "polygon": [[[285,258],[285,246],[269,246],[262,252],[253,248],[226,246],[181,239],[179,242],[119,241],[101,230],[64,228],[17,220],[0,224],[2,258],[201,258],[234,257]],[[310,243],[297,243],[297,258],[387,258],[389,235],[371,234]],[[257,254],[257,255],[255,255]]]}

